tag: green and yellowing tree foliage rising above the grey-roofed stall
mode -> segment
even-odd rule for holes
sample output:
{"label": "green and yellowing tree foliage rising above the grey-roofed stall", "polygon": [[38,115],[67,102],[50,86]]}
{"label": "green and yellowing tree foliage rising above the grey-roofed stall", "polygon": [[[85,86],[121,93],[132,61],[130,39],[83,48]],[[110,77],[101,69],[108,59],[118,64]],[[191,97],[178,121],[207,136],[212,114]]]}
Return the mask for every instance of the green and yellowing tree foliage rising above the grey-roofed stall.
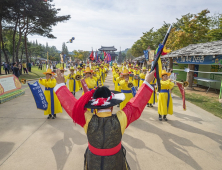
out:
{"label": "green and yellowing tree foliage rising above the grey-roofed stall", "polygon": [[[143,33],[142,37],[132,46],[132,55],[135,57],[143,55],[143,50],[148,46],[156,50],[158,44],[164,39],[169,28],[169,23],[156,31],[151,28]],[[166,43],[166,47],[171,50],[177,50],[188,46],[189,44],[205,43],[222,39],[222,14],[210,16],[210,11],[205,9],[197,14],[186,14],[177,22],[173,23],[170,36]]]}

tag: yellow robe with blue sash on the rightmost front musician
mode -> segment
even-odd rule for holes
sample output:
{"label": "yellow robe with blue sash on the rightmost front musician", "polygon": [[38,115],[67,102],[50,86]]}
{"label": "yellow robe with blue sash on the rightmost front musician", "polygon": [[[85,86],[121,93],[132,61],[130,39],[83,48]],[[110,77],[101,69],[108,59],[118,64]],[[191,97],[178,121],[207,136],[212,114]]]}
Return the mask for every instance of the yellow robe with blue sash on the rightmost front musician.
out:
{"label": "yellow robe with blue sash on the rightmost front musician", "polygon": [[159,93],[158,113],[160,115],[173,114],[173,101],[169,89],[174,87],[174,83],[167,81],[160,81],[161,91]]}

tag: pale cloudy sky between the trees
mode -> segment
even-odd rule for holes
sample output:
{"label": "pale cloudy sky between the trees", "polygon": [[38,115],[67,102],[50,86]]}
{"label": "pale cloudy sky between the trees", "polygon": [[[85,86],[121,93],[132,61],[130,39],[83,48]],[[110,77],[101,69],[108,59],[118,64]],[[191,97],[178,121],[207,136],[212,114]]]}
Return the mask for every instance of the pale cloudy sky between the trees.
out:
{"label": "pale cloudy sky between the trees", "polygon": [[71,15],[65,23],[53,27],[57,39],[29,36],[29,40],[61,50],[62,43],[69,51],[96,50],[102,46],[115,46],[118,51],[130,48],[143,32],[158,29],[163,22],[173,23],[187,13],[210,10],[210,15],[222,13],[221,0],[54,0],[60,15]]}

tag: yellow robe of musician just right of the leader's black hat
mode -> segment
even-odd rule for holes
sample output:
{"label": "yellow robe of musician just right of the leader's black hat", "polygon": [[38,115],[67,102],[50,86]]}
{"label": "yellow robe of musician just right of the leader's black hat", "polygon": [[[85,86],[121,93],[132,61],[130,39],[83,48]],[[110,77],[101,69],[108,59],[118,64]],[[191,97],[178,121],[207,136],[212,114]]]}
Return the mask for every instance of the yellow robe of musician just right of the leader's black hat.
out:
{"label": "yellow robe of musician just right of the leader's black hat", "polygon": [[121,92],[125,94],[125,100],[122,103],[120,103],[120,110],[122,110],[126,106],[126,104],[130,101],[130,99],[133,98],[133,94],[132,94],[132,89],[128,88],[128,83],[126,83],[125,80],[121,80],[119,84],[121,87]]}

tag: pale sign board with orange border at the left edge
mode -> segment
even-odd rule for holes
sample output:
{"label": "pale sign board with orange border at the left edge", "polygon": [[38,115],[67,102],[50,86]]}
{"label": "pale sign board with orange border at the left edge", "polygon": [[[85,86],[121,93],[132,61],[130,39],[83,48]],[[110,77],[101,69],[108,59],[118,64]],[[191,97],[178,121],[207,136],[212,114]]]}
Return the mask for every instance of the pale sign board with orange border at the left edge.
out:
{"label": "pale sign board with orange border at the left edge", "polygon": [[0,96],[21,89],[21,87],[22,85],[15,75],[0,76]]}

